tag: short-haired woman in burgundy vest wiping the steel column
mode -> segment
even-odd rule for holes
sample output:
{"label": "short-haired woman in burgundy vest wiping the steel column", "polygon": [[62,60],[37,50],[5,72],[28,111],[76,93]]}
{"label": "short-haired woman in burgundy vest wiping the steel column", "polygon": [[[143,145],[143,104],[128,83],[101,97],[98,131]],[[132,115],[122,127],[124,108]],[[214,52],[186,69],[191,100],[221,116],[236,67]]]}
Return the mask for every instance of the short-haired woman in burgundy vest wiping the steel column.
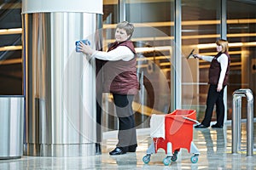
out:
{"label": "short-haired woman in burgundy vest wiping the steel column", "polygon": [[108,47],[108,52],[96,51],[89,44],[79,42],[79,51],[90,54],[91,58],[106,60],[102,66],[104,92],[113,94],[113,103],[119,118],[119,142],[110,155],[122,155],[135,152],[137,134],[132,109],[134,95],[137,94],[137,55],[131,36],[134,26],[121,22],[116,26],[115,42]]}

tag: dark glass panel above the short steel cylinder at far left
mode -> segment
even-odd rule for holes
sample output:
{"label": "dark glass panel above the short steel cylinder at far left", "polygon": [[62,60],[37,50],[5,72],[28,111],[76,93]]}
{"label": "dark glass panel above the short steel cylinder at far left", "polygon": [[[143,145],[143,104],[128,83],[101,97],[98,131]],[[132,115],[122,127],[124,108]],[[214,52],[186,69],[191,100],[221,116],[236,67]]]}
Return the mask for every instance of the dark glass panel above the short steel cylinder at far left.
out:
{"label": "dark glass panel above the short steel cylinder at far left", "polygon": [[21,1],[0,1],[0,95],[23,94]]}

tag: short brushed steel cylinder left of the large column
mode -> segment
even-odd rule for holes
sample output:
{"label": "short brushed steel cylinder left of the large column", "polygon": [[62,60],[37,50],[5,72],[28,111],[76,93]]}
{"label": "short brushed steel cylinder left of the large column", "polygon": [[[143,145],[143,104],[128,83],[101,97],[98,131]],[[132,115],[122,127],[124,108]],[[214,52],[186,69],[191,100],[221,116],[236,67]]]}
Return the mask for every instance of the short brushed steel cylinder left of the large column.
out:
{"label": "short brushed steel cylinder left of the large column", "polygon": [[0,96],[0,159],[23,155],[24,96]]}

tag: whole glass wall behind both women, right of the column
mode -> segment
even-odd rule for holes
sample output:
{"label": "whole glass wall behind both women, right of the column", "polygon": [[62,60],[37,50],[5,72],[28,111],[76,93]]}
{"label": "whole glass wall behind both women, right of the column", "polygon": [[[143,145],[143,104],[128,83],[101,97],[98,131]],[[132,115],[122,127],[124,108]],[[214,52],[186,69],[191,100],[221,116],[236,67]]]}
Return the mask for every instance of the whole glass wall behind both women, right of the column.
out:
{"label": "whole glass wall behind both women, right of the column", "polygon": [[[187,58],[194,54],[215,55],[216,40],[226,37],[230,42],[230,84],[224,99],[227,119],[232,115],[232,94],[238,88],[256,91],[256,3],[254,1],[180,0],[182,47],[175,44],[174,0],[104,0],[104,43],[114,41],[115,24],[128,20],[136,26],[132,41],[137,49],[137,68],[141,91],[134,101],[137,127],[148,126],[148,116],[168,113],[174,94],[170,90],[174,77],[172,58],[182,59],[182,109],[195,109],[201,121],[205,114],[208,68],[207,61]],[[239,7],[239,10],[238,10]],[[223,11],[222,11],[223,10]],[[222,15],[224,14],[224,15]],[[177,23],[178,24],[178,23]],[[223,25],[224,24],[224,25]],[[225,29],[227,28],[227,29]],[[181,56],[174,56],[173,50]],[[177,55],[177,54],[176,54]],[[167,86],[166,86],[167,84]],[[177,90],[177,89],[175,89]],[[244,107],[245,101],[243,101]],[[246,108],[243,107],[243,110]],[[256,108],[256,107],[254,107]],[[254,116],[255,116],[254,111]],[[246,111],[242,111],[242,117]],[[212,121],[216,120],[213,112]]]}

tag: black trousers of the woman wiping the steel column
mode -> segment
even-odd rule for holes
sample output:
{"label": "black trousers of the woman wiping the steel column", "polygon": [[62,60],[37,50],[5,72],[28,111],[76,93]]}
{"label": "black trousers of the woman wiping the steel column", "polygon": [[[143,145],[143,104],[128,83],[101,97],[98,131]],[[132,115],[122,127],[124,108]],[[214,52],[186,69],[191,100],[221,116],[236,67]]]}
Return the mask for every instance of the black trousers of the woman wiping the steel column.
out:
{"label": "black trousers of the woman wiping the steel column", "polygon": [[132,110],[134,95],[113,94],[113,103],[119,119],[119,142],[116,145],[128,151],[130,147],[137,147],[135,118]]}

